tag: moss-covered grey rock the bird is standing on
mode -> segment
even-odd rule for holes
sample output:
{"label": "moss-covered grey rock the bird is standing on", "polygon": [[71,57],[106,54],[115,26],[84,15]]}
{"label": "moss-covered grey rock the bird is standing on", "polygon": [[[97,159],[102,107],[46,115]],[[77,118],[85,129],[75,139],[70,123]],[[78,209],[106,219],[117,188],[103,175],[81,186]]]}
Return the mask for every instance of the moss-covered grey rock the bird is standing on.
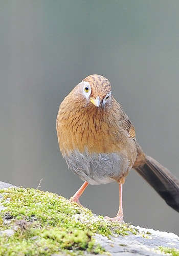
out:
{"label": "moss-covered grey rock the bird is standing on", "polygon": [[0,190],[0,256],[179,256],[175,234],[107,221],[53,193],[5,187]]}

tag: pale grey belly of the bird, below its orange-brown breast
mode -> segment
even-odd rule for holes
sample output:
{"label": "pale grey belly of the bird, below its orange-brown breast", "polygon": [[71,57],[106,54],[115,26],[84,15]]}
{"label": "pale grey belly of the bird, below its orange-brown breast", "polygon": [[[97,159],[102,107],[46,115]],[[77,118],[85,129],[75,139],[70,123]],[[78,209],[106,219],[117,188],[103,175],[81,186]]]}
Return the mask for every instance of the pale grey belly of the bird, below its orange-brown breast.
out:
{"label": "pale grey belly of the bird, below its orange-brown breast", "polygon": [[123,177],[129,167],[128,162],[124,162],[122,154],[89,154],[73,151],[64,155],[68,166],[82,180],[89,184],[106,184],[115,181],[115,177]]}

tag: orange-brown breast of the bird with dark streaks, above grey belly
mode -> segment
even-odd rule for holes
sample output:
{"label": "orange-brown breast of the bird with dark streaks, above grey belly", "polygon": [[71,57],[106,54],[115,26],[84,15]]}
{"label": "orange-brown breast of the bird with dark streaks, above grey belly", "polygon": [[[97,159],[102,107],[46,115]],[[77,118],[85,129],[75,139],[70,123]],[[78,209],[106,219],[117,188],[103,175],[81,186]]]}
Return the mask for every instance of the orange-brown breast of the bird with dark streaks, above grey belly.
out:
{"label": "orange-brown breast of the bird with dark streaks, above grey belly", "polygon": [[89,153],[120,152],[126,144],[121,135],[119,122],[110,112],[95,109],[82,109],[57,116],[57,134],[62,154],[78,150]]}

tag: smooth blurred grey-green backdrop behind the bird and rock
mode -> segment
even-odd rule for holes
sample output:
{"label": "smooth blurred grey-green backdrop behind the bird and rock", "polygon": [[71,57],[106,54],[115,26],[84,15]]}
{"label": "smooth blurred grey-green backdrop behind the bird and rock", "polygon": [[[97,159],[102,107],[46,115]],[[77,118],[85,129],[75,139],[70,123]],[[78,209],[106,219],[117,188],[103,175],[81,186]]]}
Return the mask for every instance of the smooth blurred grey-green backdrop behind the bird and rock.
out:
{"label": "smooth blurred grey-green backdrop behind the bird and rock", "polygon": [[[82,181],[62,159],[59,104],[89,74],[106,76],[143,150],[178,173],[179,1],[0,1],[0,180],[70,198]],[[81,203],[114,216],[118,185],[89,186]],[[124,220],[179,233],[172,210],[135,172]]]}

